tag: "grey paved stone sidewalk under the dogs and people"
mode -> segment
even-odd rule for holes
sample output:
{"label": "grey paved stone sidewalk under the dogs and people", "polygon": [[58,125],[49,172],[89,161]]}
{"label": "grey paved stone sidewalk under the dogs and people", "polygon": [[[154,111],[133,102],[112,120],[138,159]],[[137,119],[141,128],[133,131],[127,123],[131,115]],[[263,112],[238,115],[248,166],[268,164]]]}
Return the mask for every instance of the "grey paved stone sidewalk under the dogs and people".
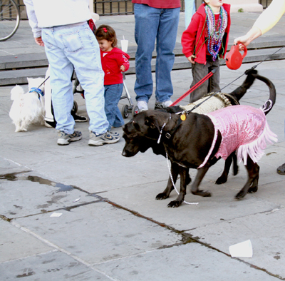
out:
{"label": "grey paved stone sidewalk under the dogs and people", "polygon": [[[276,30],[271,34],[278,37]],[[222,66],[221,88],[255,64],[244,63],[237,71]],[[14,133],[9,118],[13,86],[1,86],[0,279],[285,280],[285,176],[276,173],[285,162],[285,61],[266,61],[257,70],[276,86],[276,104],[267,120],[279,139],[259,161],[258,192],[234,199],[247,178],[242,164],[238,175],[214,185],[224,166],[219,160],[201,184],[212,197],[201,198],[187,189],[185,200],[199,204],[179,208],[167,208],[175,191],[166,200],[155,200],[169,176],[161,155],[147,150],[124,158],[123,139],[90,147],[88,123],[76,123],[83,138],[67,146],[56,145],[56,131],[44,126]],[[172,71],[173,101],[191,81],[189,69]],[[128,75],[125,83],[135,100],[135,75]],[[268,88],[257,81],[241,103],[259,107],[268,97]],[[83,98],[76,94],[75,99],[78,113],[87,116]],[[122,100],[120,106],[126,103]],[[154,104],[152,96],[150,107]],[[115,131],[123,133],[121,128]],[[190,175],[193,179],[196,170]],[[231,257],[229,246],[245,240],[252,241],[253,257]]]}

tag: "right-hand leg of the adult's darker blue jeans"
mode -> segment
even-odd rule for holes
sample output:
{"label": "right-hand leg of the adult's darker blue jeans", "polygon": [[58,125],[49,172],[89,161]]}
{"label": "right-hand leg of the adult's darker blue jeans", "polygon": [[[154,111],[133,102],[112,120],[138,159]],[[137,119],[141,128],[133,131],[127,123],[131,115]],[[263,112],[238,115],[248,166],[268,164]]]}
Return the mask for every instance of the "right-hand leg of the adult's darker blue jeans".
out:
{"label": "right-hand leg of the adult's darker blue jeans", "polygon": [[161,9],[160,24],[157,30],[155,66],[155,98],[160,103],[170,101],[173,95],[171,71],[175,60],[173,50],[176,43],[179,16],[180,8]]}

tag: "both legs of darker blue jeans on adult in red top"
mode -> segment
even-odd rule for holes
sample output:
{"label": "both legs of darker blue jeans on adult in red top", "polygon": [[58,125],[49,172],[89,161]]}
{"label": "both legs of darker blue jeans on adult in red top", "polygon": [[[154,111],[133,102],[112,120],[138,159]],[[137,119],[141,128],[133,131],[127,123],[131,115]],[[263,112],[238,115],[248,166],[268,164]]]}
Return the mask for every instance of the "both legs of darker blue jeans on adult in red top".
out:
{"label": "both legs of darker blue jeans on adult in red top", "polygon": [[137,101],[146,101],[152,96],[151,73],[152,51],[156,39],[155,98],[158,102],[169,101],[173,94],[170,72],[175,54],[180,8],[156,9],[145,4],[135,4],[135,93]]}

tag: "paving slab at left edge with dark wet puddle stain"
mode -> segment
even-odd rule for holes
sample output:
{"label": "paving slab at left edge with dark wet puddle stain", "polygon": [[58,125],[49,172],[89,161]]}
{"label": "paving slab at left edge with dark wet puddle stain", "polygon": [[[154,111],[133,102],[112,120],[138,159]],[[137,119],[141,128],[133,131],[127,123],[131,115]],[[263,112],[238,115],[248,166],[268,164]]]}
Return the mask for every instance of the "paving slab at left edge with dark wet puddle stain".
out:
{"label": "paving slab at left edge with dark wet puddle stain", "polygon": [[98,198],[74,185],[56,183],[37,173],[9,174],[1,179],[0,213],[9,219],[48,213],[61,208],[71,210],[79,205],[98,201]]}

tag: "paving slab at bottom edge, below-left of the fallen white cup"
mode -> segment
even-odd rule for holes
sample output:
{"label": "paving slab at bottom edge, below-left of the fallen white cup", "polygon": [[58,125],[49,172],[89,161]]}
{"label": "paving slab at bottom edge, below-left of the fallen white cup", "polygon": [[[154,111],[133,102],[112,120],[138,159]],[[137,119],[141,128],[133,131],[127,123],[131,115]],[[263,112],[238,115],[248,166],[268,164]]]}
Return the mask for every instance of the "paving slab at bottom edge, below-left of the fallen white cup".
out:
{"label": "paving slab at bottom edge, below-left of the fallen white cup", "polygon": [[[211,257],[211,263],[207,259]],[[155,263],[154,263],[155,261]],[[144,265],[143,268],[141,265]],[[116,280],[276,280],[262,270],[197,243],[96,265]],[[212,272],[216,272],[213,274]]]}

